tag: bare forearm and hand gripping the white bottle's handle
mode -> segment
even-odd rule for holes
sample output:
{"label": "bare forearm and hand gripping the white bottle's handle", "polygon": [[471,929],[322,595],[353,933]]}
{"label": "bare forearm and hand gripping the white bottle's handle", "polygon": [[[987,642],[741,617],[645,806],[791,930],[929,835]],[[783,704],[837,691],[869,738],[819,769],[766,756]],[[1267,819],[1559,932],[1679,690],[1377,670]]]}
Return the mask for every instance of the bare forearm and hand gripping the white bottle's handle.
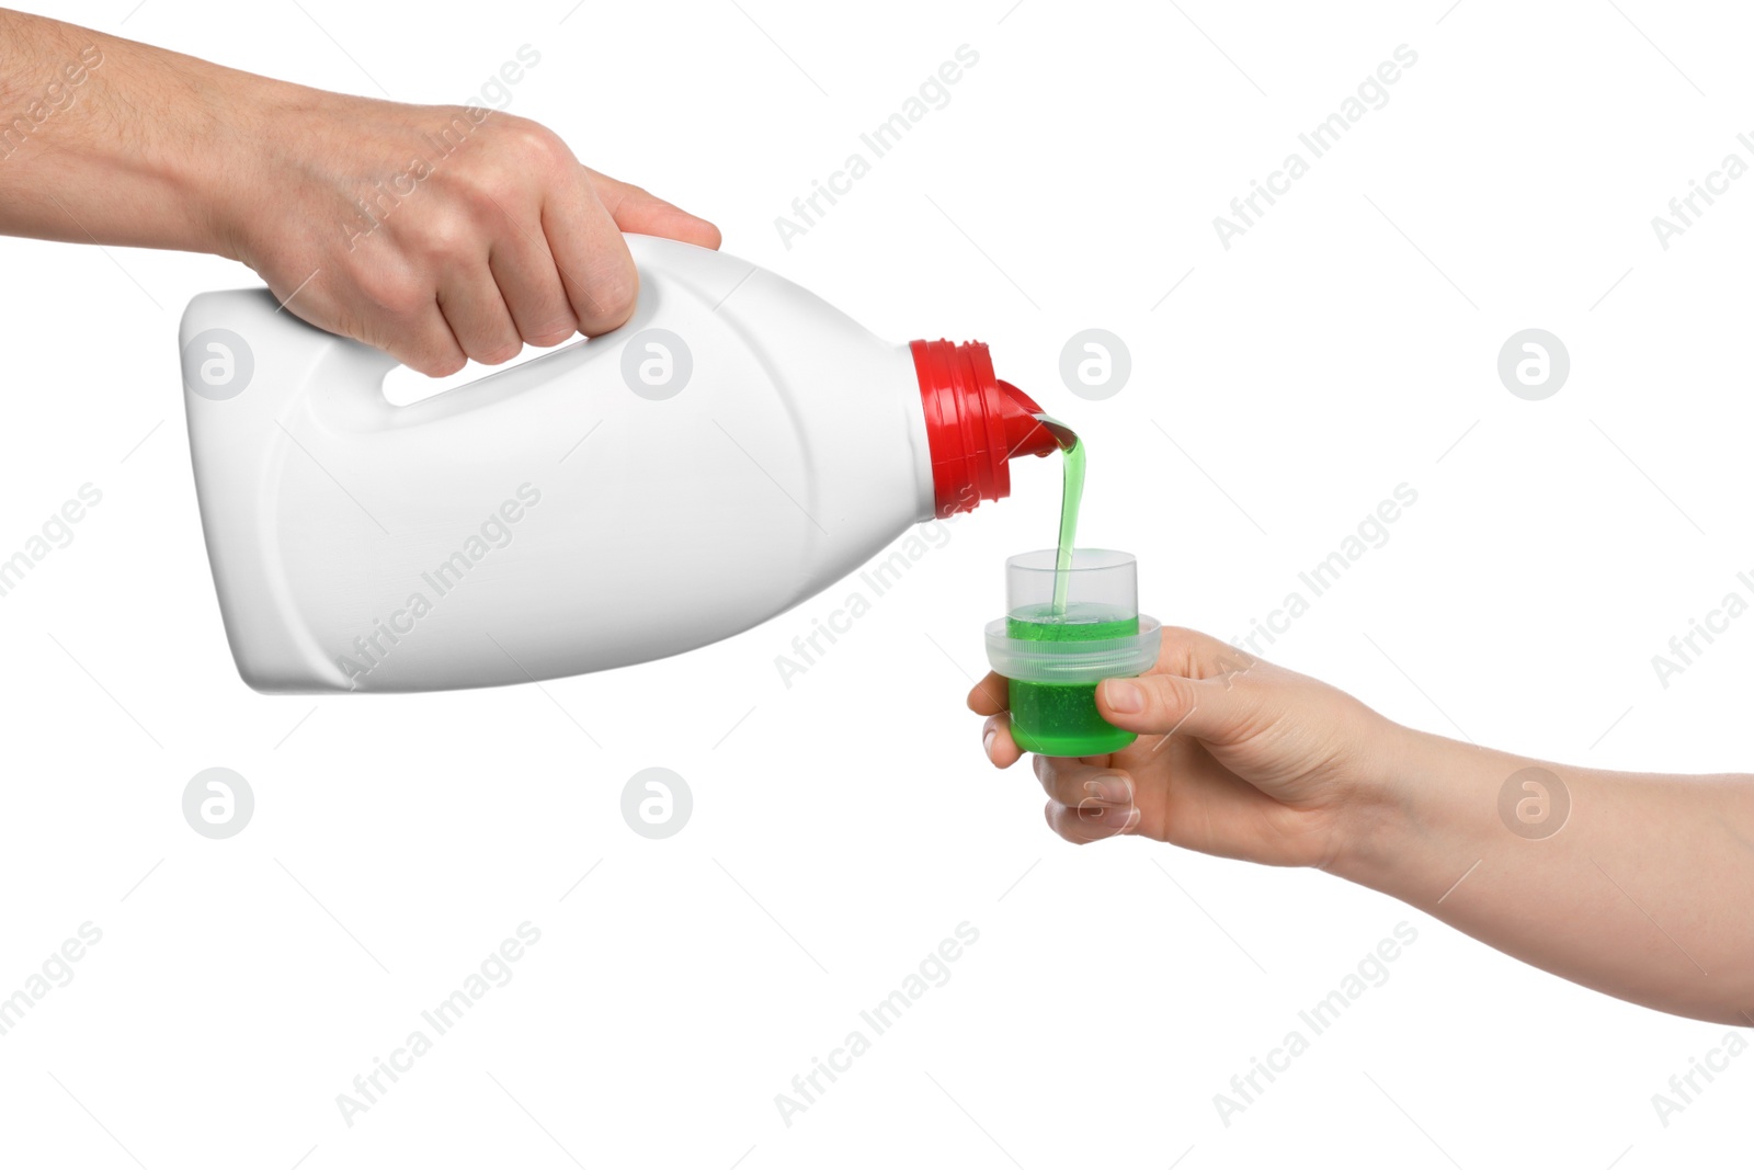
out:
{"label": "bare forearm and hand gripping the white bottle's handle", "polygon": [[309,89],[0,9],[0,233],[214,253],[442,375],[633,312],[623,232],[703,219],[533,121]]}

